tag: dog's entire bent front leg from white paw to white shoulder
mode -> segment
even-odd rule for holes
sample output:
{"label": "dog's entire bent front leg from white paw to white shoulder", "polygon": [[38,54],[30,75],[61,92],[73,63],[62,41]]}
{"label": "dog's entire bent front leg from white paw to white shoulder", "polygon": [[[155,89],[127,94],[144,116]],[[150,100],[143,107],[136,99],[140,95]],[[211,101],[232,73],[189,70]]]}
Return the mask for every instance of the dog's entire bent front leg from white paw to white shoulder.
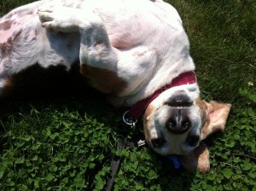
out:
{"label": "dog's entire bent front leg from white paw to white shoulder", "polygon": [[49,31],[79,32],[80,72],[103,93],[135,94],[154,71],[156,50],[143,45],[125,51],[114,48],[102,18],[93,9],[49,7],[38,9],[38,15]]}

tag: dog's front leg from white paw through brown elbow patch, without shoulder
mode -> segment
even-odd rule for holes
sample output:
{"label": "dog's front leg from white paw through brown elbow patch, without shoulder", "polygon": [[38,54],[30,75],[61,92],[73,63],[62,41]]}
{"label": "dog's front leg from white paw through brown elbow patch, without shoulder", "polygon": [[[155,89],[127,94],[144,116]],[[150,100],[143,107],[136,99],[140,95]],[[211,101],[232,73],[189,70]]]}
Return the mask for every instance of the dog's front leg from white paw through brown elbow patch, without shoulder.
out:
{"label": "dog's front leg from white paw through brown elbow patch, without shoulder", "polygon": [[125,89],[117,69],[119,50],[111,45],[101,17],[92,9],[48,7],[38,9],[38,15],[51,32],[79,32],[80,72],[93,87],[108,94]]}

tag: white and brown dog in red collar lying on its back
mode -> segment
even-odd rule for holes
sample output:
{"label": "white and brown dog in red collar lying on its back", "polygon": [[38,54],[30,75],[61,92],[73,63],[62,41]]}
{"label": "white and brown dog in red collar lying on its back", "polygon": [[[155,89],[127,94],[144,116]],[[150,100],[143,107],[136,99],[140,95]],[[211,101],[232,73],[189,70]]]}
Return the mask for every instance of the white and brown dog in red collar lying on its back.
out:
{"label": "white and brown dog in red collar lying on its back", "polygon": [[0,96],[33,66],[68,72],[79,64],[92,87],[114,105],[131,107],[131,124],[143,118],[146,142],[156,153],[177,154],[188,171],[209,171],[202,141],[224,130],[231,105],[201,100],[189,39],[169,3],[38,1],[4,15],[0,37]]}

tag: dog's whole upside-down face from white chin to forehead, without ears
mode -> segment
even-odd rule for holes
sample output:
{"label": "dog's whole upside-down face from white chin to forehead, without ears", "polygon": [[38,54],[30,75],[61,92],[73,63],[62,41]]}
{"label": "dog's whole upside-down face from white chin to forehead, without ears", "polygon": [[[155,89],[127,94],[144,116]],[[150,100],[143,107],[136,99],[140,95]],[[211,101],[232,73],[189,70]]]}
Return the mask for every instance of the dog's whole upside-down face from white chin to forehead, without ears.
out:
{"label": "dog's whole upside-down face from white chin to forehead, without ears", "polygon": [[164,156],[193,152],[201,142],[201,110],[195,96],[186,90],[174,90],[161,99],[148,107],[145,114],[148,145]]}

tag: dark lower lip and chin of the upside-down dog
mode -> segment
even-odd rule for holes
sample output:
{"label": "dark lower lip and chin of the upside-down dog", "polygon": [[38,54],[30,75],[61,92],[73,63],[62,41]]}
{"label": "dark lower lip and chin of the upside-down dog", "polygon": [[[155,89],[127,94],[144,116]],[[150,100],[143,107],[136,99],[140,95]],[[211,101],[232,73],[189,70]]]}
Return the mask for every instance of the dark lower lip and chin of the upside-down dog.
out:
{"label": "dark lower lip and chin of the upside-down dog", "polygon": [[178,92],[177,95],[172,96],[168,101],[166,101],[166,105],[171,107],[190,107],[192,106],[193,101],[189,99],[184,92]]}

